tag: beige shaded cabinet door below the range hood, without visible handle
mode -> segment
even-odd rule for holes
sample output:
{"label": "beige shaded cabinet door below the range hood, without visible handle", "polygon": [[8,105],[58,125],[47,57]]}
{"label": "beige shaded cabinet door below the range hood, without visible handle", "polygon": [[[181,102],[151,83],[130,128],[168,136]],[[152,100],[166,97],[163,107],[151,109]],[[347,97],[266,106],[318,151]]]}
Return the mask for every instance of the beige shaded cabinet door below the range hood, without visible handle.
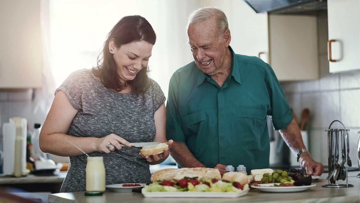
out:
{"label": "beige shaded cabinet door below the range hood, without visible handle", "polygon": [[278,80],[318,79],[316,16],[269,15],[269,52]]}

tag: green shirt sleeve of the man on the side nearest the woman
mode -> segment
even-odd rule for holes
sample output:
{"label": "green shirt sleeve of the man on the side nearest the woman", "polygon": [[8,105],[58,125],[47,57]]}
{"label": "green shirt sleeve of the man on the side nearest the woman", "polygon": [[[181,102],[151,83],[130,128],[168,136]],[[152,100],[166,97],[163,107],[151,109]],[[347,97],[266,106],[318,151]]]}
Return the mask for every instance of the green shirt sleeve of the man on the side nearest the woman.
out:
{"label": "green shirt sleeve of the man on the side nearest the woman", "polygon": [[178,109],[179,81],[175,74],[169,83],[169,93],[166,103],[166,139],[186,142],[186,136],[181,127]]}

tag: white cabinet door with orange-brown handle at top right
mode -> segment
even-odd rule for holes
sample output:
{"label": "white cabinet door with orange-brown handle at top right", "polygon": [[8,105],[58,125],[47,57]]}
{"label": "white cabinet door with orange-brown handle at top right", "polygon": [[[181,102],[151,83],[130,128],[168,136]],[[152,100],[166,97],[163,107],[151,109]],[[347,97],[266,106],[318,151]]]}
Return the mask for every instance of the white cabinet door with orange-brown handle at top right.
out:
{"label": "white cabinet door with orange-brown handle at top right", "polygon": [[[329,71],[360,69],[360,1],[328,0],[328,30],[331,43]],[[329,42],[328,42],[329,46]],[[329,57],[328,57],[329,59]]]}

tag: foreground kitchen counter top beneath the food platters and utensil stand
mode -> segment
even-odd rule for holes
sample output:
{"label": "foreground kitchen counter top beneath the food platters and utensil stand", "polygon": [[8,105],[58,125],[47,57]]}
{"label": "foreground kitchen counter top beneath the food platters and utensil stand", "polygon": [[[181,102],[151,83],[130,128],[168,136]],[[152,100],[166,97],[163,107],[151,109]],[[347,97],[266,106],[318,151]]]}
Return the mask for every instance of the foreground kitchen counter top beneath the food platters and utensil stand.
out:
{"label": "foreground kitchen counter top beneath the food platters and utensil stand", "polygon": [[[342,188],[329,188],[321,187],[321,185],[328,184],[328,180],[325,180],[328,173],[323,173],[323,177],[314,181],[315,187],[311,187],[309,190],[297,193],[263,193],[256,189],[249,191],[244,197],[239,198],[145,198],[141,193],[119,193],[106,191],[102,196],[85,196],[84,192],[75,193],[57,193],[50,194],[48,202],[50,203],[105,203],[105,202],[143,202],[143,203],[182,203],[182,202],[207,202],[207,203],[219,203],[219,202],[307,202],[307,203],[338,203],[347,202],[352,203],[360,202],[360,178],[356,175],[359,171],[349,172],[348,183],[353,184],[354,187],[342,187]],[[343,181],[337,181],[340,184]]]}

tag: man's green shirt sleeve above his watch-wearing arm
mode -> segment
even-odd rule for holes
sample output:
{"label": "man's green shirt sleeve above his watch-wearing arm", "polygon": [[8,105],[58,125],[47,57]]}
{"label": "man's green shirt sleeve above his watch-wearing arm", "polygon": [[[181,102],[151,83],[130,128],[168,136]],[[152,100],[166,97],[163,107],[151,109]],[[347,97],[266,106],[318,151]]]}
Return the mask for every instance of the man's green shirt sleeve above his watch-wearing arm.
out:
{"label": "man's green shirt sleeve above his watch-wearing arm", "polygon": [[265,80],[271,106],[271,110],[268,114],[271,115],[273,119],[274,128],[276,130],[280,130],[284,129],[291,123],[293,116],[278,78],[276,78],[276,75],[270,65],[266,65],[267,69],[265,69]]}

